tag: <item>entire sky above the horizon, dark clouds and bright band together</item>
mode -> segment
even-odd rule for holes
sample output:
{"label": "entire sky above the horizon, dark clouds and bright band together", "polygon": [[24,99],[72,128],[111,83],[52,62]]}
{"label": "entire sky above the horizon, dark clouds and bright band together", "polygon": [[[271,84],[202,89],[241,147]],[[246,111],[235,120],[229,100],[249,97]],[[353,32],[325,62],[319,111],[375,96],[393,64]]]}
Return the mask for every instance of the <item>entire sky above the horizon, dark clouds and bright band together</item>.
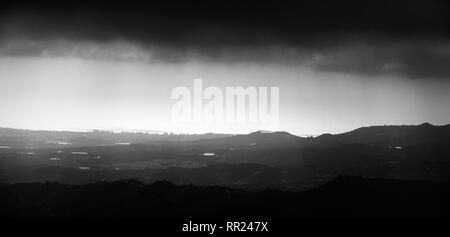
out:
{"label": "entire sky above the horizon, dark clouds and bright band together", "polygon": [[174,87],[277,86],[280,129],[450,123],[444,1],[52,2],[0,9],[0,126],[246,133],[176,126]]}

